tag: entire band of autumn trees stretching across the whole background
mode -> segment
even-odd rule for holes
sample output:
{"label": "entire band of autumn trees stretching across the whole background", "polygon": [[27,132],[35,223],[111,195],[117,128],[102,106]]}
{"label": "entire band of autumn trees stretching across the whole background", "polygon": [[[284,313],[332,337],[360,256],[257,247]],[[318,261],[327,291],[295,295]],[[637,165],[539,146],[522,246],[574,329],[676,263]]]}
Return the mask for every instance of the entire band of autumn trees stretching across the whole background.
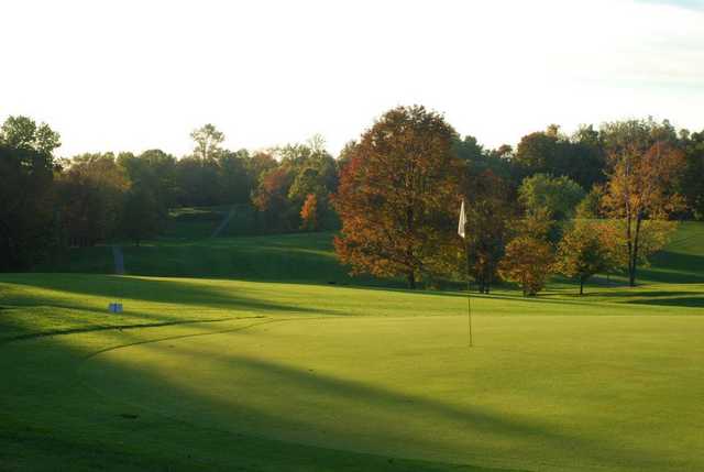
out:
{"label": "entire band of autumn trees stretching across the whole background", "polygon": [[[704,132],[652,119],[550,125],[514,149],[485,149],[422,107],[389,110],[337,158],[321,138],[231,151],[212,124],[194,151],[56,158],[58,133],[26,117],[0,130],[0,270],[24,270],[73,245],[139,244],[169,209],[233,206],[248,233],[340,229],[352,272],[409,286],[462,275],[538,293],[559,272],[580,281],[637,270],[675,219],[704,218]],[[466,239],[457,235],[460,201]],[[466,249],[466,251],[465,251]],[[465,260],[466,254],[466,260]]]}

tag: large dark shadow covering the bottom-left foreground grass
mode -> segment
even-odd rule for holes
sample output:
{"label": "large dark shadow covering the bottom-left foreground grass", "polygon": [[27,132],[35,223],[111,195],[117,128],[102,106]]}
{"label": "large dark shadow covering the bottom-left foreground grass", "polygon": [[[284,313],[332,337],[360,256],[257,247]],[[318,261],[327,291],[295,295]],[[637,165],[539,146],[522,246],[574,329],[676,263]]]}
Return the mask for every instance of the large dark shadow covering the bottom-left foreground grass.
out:
{"label": "large dark shadow covering the bottom-left foreground grass", "polygon": [[[130,339],[127,332],[100,336],[103,337],[103,345]],[[518,472],[406,460],[330,449],[322,444],[306,446],[296,441],[246,436],[241,433],[237,422],[222,428],[215,424],[184,421],[184,415],[198,406],[215,408],[226,415],[233,410],[180,385],[162,385],[169,389],[144,392],[146,396],[180,395],[189,402],[190,407],[180,405],[165,414],[143,407],[141,400],[125,403],[123,398],[112,400],[96,395],[77,376],[77,366],[88,353],[86,348],[56,339],[41,342],[0,345],[0,369],[8,381],[0,384],[0,403],[11,407],[0,414],[0,457],[3,458],[3,465],[10,470],[54,470],[56,464],[66,463],[76,470],[116,471]],[[95,343],[91,345],[99,347]],[[193,361],[205,362],[202,365],[209,362],[202,356]],[[105,362],[102,365],[107,369],[103,373],[118,381],[110,388],[111,396],[120,393],[123,384],[143,373],[120,363]],[[160,382],[158,372],[150,378]],[[52,394],[45,395],[44,392]],[[250,418],[252,415],[258,416],[262,422],[279,419],[287,425],[315,428],[310,421],[276,417],[264,410],[242,409],[234,413]],[[264,436],[276,436],[276,431],[270,431],[272,435],[263,432]],[[413,448],[413,442],[408,446]],[[413,449],[407,453],[411,454]]]}

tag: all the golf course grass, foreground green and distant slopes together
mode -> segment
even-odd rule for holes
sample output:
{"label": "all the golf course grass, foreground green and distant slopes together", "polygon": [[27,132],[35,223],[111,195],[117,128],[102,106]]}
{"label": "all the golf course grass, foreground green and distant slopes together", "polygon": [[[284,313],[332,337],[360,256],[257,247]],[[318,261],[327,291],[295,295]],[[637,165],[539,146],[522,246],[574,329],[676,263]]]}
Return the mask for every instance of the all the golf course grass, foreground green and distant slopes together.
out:
{"label": "all the golf course grass, foreground green and distant slopes together", "polygon": [[473,349],[464,294],[329,285],[329,238],[0,275],[0,470],[704,469],[703,224],[637,288],[474,296]]}

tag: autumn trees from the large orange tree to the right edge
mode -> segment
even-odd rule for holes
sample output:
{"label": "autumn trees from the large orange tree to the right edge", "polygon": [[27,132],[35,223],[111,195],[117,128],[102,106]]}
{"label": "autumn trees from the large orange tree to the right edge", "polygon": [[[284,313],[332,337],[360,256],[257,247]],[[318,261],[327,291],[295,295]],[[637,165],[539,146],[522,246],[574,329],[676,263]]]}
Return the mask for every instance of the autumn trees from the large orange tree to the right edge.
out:
{"label": "autumn trees from the large orange tree to the right edge", "polygon": [[483,293],[505,279],[536,295],[554,273],[580,293],[597,273],[624,271],[635,285],[674,221],[704,215],[703,142],[649,118],[570,136],[550,125],[516,150],[485,150],[442,116],[400,107],[348,150],[336,250],[353,273],[403,276],[411,288],[465,267]]}

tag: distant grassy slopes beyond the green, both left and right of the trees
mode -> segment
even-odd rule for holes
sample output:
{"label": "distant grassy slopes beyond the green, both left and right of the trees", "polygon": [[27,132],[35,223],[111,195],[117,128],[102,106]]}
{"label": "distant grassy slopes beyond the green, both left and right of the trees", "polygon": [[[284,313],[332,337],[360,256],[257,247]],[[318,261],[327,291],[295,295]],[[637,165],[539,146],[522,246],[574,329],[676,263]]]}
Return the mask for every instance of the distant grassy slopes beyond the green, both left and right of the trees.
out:
{"label": "distant grassy slopes beyond the green, both left and right of the trees", "polygon": [[[227,208],[186,209],[179,215],[182,218],[172,218],[162,238],[139,248],[120,243],[129,274],[404,286],[403,282],[350,277],[338,263],[330,232],[211,238]],[[226,227],[223,233],[228,231]],[[641,283],[704,282],[704,222],[681,223],[651,262],[640,270]],[[110,274],[113,267],[111,248],[99,245],[74,248],[64,261],[44,264],[36,272]]]}

